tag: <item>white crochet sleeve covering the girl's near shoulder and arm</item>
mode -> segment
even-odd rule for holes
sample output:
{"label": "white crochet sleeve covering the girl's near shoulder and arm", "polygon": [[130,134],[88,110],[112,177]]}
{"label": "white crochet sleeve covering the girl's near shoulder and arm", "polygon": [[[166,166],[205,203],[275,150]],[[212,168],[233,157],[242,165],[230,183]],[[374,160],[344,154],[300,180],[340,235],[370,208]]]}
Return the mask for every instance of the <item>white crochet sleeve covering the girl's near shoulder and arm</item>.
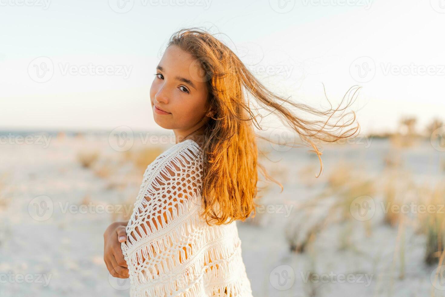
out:
{"label": "white crochet sleeve covering the girl's near shoulder and arm", "polygon": [[198,210],[201,177],[196,146],[161,155],[147,168],[126,227],[127,241],[121,244],[135,285],[164,284],[162,291],[152,291],[162,296],[174,290],[166,282],[176,277],[180,285],[184,263],[193,254],[190,233],[196,221],[190,214]]}

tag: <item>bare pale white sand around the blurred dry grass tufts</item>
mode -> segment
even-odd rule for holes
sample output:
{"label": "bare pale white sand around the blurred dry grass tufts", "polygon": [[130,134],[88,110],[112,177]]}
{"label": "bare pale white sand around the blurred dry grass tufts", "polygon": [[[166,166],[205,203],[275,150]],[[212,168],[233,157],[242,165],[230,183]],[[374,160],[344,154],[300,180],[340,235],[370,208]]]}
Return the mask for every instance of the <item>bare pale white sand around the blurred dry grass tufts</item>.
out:
{"label": "bare pale white sand around the blurred dry grass tufts", "polygon": [[[0,150],[0,177],[3,176],[0,179],[0,296],[128,296],[128,281],[118,284],[117,279],[109,276],[103,262],[102,235],[116,217],[106,212],[97,213],[101,210],[98,205],[131,205],[129,201],[138,193],[142,175],[135,175],[131,163],[113,161],[123,153],[113,151],[107,139],[88,138],[53,138],[48,148],[8,144],[1,145]],[[101,160],[112,160],[106,161],[112,165],[112,172],[105,178],[82,168],[77,161],[79,151],[94,150],[100,152]],[[283,173],[279,179],[285,190],[279,193],[279,187],[272,184],[263,201],[273,206],[289,206],[312,199],[325,187],[328,173],[335,170],[337,162],[346,158],[378,183],[382,159],[388,150],[387,143],[377,141],[366,149],[360,146],[327,148],[323,156],[325,174],[319,179],[313,178],[313,187],[302,183],[312,179],[302,177],[299,170],[305,166],[317,169],[316,159],[308,157],[305,150],[275,152],[275,160],[283,160],[274,165],[275,169],[270,169]],[[428,144],[407,150],[405,158],[411,161],[405,170],[414,169],[415,180],[419,182],[443,179],[435,159],[428,157],[436,153]],[[30,214],[28,210],[32,199],[41,195],[48,196],[53,203],[53,214],[44,221],[35,220],[35,213],[31,210]],[[376,201],[381,199],[379,195],[374,197]],[[88,208],[89,203],[92,204]],[[67,206],[72,207],[71,211],[65,212]],[[332,224],[316,236],[306,252],[294,254],[287,246],[285,228],[298,224],[303,230],[310,224],[295,209],[287,218],[285,213],[276,211],[258,214],[257,224],[237,223],[254,296],[430,296],[433,288],[430,274],[434,267],[423,263],[425,238],[416,234],[414,227],[406,227],[404,278],[399,279],[400,252],[394,257],[397,228],[384,225],[382,213],[377,211],[371,220],[370,237],[366,236],[362,222]],[[341,249],[345,239],[349,241],[348,248]],[[279,270],[280,265],[290,268],[281,266]],[[289,274],[292,271],[294,277]],[[309,272],[327,277],[328,281],[304,282]],[[279,275],[283,279],[277,285]],[[339,280],[343,275],[355,277],[355,281]],[[372,280],[370,283],[365,277],[358,280],[360,275]],[[284,277],[288,277],[287,282]],[[279,290],[289,284],[289,289]],[[436,290],[435,294],[445,296],[445,291]]]}

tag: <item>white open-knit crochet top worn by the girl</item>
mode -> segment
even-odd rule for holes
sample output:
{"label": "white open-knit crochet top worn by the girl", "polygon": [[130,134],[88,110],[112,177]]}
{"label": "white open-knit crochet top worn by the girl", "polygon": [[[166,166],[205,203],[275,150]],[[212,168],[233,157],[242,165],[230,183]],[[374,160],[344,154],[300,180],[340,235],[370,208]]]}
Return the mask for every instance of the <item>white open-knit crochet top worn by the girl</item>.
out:
{"label": "white open-knit crochet top worn by the girl", "polygon": [[199,149],[179,142],[144,173],[121,244],[132,297],[252,296],[236,221],[209,226],[199,217]]}

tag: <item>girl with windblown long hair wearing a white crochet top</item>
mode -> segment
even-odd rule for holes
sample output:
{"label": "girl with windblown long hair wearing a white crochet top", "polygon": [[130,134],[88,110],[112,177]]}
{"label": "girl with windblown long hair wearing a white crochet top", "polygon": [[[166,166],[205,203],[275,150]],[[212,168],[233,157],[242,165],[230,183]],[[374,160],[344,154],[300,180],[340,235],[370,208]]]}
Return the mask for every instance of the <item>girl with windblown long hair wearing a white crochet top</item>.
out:
{"label": "girl with windblown long hair wearing a white crochet top", "polygon": [[[351,101],[326,111],[288,102],[205,30],[174,33],[150,100],[155,122],[174,131],[176,144],[147,167],[130,220],[104,234],[105,264],[114,277],[130,278],[131,296],[252,296],[236,221],[255,216],[257,170],[275,180],[257,163],[258,122],[247,94],[276,111],[319,158],[314,140],[359,129],[355,114],[344,112]],[[284,104],[325,118],[305,120]]]}

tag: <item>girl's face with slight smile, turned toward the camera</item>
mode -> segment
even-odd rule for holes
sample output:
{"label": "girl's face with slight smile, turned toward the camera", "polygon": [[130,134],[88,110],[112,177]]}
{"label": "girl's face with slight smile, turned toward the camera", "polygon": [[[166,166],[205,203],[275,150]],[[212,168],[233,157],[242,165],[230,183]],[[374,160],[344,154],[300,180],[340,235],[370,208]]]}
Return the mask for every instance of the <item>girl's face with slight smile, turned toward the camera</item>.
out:
{"label": "girl's face with slight smile, turned toward the camera", "polygon": [[206,82],[200,79],[202,69],[195,66],[196,59],[189,53],[169,46],[151,84],[154,121],[162,128],[174,130],[177,137],[186,137],[210,116]]}

